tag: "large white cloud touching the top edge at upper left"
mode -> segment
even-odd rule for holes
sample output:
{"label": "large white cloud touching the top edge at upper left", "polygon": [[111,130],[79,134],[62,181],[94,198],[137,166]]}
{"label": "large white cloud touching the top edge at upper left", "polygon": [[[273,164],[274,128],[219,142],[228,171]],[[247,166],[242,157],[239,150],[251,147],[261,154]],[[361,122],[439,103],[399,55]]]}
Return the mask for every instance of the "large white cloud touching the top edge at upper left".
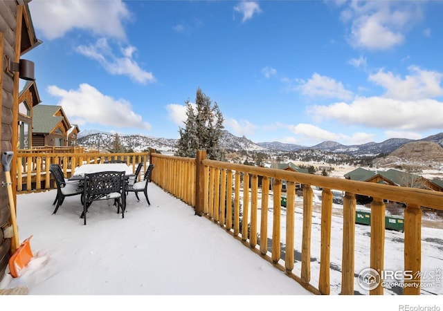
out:
{"label": "large white cloud touching the top edge at upper left", "polygon": [[36,0],[29,3],[29,8],[35,28],[49,40],[63,37],[75,29],[125,39],[123,22],[131,19],[125,3],[120,0]]}

